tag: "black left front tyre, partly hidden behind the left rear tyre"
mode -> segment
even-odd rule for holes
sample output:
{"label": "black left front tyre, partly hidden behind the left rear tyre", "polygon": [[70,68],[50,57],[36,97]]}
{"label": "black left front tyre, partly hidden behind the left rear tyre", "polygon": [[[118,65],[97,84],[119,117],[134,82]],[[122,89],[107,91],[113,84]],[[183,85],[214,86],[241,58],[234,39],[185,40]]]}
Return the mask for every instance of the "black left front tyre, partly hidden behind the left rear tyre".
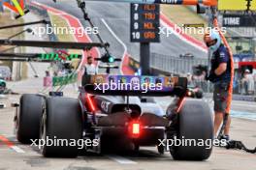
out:
{"label": "black left front tyre, partly hidden behind the left rear tyre", "polygon": [[16,138],[19,142],[29,144],[31,140],[39,139],[44,102],[44,98],[38,95],[25,94],[21,96],[16,124]]}

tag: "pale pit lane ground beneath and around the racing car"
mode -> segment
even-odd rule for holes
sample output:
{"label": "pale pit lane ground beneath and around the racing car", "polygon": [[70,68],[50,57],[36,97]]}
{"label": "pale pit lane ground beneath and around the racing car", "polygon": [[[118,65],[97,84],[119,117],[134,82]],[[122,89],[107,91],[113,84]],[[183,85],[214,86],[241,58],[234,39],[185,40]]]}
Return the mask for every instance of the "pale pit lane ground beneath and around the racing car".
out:
{"label": "pale pit lane ground beneath and around the racing car", "polygon": [[[28,79],[9,85],[22,93],[36,93],[41,89],[42,79]],[[65,89],[65,94],[76,97],[77,93],[72,86]],[[15,149],[0,142],[0,169],[1,170],[155,170],[155,169],[180,169],[180,170],[253,170],[256,168],[256,156],[240,151],[214,148],[212,155],[206,161],[176,161],[169,153],[164,156],[157,154],[155,147],[145,147],[139,154],[124,153],[118,155],[111,153],[108,155],[85,154],[77,158],[45,158],[38,153],[35,147],[22,145],[16,141],[14,135],[13,118],[15,108],[10,107],[10,103],[18,101],[19,96],[8,96],[8,99],[0,99],[8,107],[0,110],[0,136],[8,138],[14,143]],[[162,98],[169,100],[170,98]],[[238,103],[238,104],[237,104]],[[243,108],[240,104],[249,105],[252,112],[255,112],[255,103],[234,102],[236,107]],[[253,105],[254,104],[254,105]],[[255,113],[256,114],[256,113]],[[256,141],[255,121],[233,119],[233,138],[244,141],[248,147],[255,147]],[[0,137],[1,138],[1,137]],[[111,145],[111,144],[110,144]],[[23,151],[20,152],[20,151]]]}

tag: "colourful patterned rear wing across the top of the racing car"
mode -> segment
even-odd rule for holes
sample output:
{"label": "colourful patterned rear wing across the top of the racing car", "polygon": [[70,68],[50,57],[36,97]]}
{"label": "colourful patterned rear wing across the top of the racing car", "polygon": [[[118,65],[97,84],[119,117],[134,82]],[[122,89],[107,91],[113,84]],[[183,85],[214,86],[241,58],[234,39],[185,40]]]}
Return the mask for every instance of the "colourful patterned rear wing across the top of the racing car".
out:
{"label": "colourful patterned rear wing across the top of the racing car", "polygon": [[176,76],[84,75],[85,91],[103,96],[185,96],[187,78]]}

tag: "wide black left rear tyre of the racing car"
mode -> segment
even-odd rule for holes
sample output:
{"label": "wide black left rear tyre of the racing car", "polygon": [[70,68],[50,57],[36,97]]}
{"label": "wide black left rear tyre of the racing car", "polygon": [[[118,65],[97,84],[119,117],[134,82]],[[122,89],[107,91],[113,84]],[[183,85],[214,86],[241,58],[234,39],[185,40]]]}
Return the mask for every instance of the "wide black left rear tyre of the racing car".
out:
{"label": "wide black left rear tyre of the racing car", "polygon": [[[43,156],[76,157],[83,144],[82,115],[78,99],[48,98],[41,122]],[[48,142],[48,143],[47,143]]]}

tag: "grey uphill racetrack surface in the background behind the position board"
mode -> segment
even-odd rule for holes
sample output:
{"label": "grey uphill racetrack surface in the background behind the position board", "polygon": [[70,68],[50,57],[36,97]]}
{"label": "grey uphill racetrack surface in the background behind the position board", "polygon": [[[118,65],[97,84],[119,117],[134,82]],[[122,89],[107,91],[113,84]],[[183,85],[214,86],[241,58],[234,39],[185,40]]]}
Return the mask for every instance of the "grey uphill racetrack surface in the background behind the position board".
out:
{"label": "grey uphill racetrack surface in the background behind the position board", "polygon": [[[83,20],[83,15],[78,8],[76,1],[62,0],[54,3],[51,0],[36,0],[42,4],[62,10],[68,14],[78,17],[84,27],[88,27],[88,23]],[[99,32],[106,42],[110,42],[110,51],[116,57],[123,54],[123,46],[116,41],[102,19],[112,28],[114,34],[126,44],[128,53],[136,59],[140,56],[139,43],[130,42],[130,5],[128,3],[110,3],[110,2],[86,2],[87,12],[95,24],[99,28]],[[90,38],[98,42],[96,36],[89,35]],[[193,45],[180,40],[176,35],[167,37],[161,35],[160,43],[151,43],[150,51],[178,57],[179,54],[192,53],[197,58],[207,58],[207,53],[194,47]]]}

